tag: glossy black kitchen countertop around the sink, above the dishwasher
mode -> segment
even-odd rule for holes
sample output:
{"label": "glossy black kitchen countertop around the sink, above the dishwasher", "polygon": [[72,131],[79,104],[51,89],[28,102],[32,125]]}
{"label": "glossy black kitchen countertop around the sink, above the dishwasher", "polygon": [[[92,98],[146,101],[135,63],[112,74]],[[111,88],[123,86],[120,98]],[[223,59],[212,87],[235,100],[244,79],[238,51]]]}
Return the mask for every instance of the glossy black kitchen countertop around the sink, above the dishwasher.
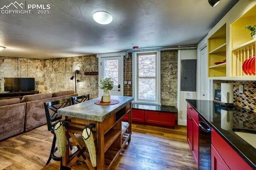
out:
{"label": "glossy black kitchen countertop around the sink, above the dishwasher", "polygon": [[[220,103],[209,100],[186,99],[186,101],[253,169],[256,169],[256,148],[234,132],[238,130],[245,130],[244,132],[251,130],[255,133],[256,113],[237,106],[225,108]],[[224,111],[227,110],[230,114],[230,120],[228,122],[226,119],[227,116],[225,119],[221,119],[221,112],[223,112],[224,115]]]}

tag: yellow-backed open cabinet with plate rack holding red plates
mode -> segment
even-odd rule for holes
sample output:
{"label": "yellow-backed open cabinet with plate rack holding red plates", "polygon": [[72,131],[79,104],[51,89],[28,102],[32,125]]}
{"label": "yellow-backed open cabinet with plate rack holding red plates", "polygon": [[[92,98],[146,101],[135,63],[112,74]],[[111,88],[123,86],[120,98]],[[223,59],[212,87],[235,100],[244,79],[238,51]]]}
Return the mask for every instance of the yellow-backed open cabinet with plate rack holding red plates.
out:
{"label": "yellow-backed open cabinet with plate rack holding red plates", "polygon": [[256,6],[253,6],[230,25],[231,77],[254,77],[242,70],[244,61],[256,54],[256,39],[250,36],[245,26],[256,24]]}

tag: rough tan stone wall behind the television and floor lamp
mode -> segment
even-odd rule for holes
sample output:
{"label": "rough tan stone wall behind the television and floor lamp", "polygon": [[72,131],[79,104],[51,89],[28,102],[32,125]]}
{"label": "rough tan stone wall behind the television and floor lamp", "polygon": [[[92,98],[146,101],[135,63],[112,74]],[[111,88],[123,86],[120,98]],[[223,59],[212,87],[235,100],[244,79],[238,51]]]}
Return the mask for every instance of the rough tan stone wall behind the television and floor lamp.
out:
{"label": "rough tan stone wall behind the television and floor lamp", "polygon": [[96,55],[56,59],[0,57],[0,91],[4,88],[4,77],[34,77],[35,90],[40,93],[72,90],[75,89],[75,81],[70,80],[72,68],[80,71],[77,93],[90,94],[91,99],[98,97],[98,76],[84,75],[85,70],[98,71]]}

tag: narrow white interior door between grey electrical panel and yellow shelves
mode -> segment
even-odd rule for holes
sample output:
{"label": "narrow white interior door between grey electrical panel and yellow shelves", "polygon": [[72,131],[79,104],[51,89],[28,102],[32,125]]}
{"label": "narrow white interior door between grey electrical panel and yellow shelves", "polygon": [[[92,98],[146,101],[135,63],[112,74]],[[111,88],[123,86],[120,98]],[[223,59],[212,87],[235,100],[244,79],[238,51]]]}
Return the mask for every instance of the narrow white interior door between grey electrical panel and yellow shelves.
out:
{"label": "narrow white interior door between grey electrical panel and yellow shelves", "polygon": [[201,59],[200,59],[200,93],[201,93],[201,100],[207,100],[208,98],[208,78],[207,78],[207,48],[203,48],[201,50]]}

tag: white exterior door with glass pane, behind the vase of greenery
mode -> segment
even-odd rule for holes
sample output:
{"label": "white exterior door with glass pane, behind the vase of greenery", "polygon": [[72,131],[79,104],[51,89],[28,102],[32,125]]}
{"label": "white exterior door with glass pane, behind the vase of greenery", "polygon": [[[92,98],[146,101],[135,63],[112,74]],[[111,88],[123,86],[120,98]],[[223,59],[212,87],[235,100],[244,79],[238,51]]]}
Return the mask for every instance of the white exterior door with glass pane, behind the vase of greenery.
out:
{"label": "white exterior door with glass pane, behind the vase of greenery", "polygon": [[[122,57],[102,57],[101,59],[101,71],[102,74],[99,79],[111,78],[114,82],[113,89],[110,91],[111,95],[122,96]],[[99,96],[101,96],[102,90],[99,91]]]}

